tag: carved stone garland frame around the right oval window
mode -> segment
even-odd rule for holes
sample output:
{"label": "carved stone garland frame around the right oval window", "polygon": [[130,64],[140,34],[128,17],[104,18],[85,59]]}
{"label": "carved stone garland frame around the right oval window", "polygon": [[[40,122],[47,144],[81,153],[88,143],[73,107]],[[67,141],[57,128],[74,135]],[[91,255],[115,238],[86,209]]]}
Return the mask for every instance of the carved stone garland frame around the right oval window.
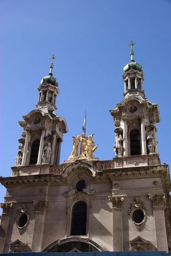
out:
{"label": "carved stone garland frame around the right oval window", "polygon": [[[144,218],[143,218],[142,222],[140,222],[140,223],[136,223],[135,221],[133,221],[133,212],[136,209],[140,209],[144,213]],[[144,203],[141,202],[139,200],[139,198],[135,198],[135,200],[132,203],[130,203],[128,215],[130,215],[130,218],[133,221],[133,224],[136,226],[137,230],[139,231],[140,227],[142,226],[143,222],[145,221],[145,215],[147,215],[147,209],[144,207]]]}

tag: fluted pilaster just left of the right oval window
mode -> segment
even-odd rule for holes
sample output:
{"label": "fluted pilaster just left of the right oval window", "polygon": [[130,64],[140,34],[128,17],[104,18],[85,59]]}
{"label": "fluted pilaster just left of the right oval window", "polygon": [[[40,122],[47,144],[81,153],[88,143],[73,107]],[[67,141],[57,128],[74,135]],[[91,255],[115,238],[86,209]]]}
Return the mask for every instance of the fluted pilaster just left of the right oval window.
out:
{"label": "fluted pilaster just left of the right oval window", "polygon": [[122,203],[123,196],[109,196],[113,209],[113,251],[123,251]]}

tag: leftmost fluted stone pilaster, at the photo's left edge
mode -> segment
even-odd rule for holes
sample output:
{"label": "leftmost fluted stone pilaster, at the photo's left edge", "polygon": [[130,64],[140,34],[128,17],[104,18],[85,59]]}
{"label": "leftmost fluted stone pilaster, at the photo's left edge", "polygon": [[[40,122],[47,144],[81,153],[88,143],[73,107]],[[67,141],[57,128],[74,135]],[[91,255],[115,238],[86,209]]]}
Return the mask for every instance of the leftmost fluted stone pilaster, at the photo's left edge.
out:
{"label": "leftmost fluted stone pilaster, at the photo's left edge", "polygon": [[13,202],[0,204],[0,207],[3,209],[2,219],[0,223],[0,253],[3,253],[3,248],[6,242],[6,233],[8,229],[9,217],[13,207]]}

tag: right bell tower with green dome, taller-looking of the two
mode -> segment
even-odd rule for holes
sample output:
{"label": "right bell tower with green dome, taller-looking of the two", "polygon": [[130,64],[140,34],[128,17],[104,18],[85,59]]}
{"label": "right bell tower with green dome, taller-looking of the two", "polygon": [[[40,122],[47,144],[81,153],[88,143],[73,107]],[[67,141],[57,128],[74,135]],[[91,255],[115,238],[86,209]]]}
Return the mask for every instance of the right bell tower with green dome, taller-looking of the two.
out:
{"label": "right bell tower with green dome, taller-looking of the two", "polygon": [[110,110],[115,125],[115,167],[148,166],[159,164],[156,123],[160,122],[159,107],[145,98],[142,66],[133,58],[124,67],[124,99]]}

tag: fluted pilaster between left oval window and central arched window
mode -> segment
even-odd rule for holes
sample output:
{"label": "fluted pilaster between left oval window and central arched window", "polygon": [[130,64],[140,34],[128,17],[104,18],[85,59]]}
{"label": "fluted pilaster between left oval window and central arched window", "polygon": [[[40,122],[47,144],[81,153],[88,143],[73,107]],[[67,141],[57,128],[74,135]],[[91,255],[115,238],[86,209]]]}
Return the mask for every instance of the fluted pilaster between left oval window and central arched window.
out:
{"label": "fluted pilaster between left oval window and central arched window", "polygon": [[46,218],[47,200],[33,201],[35,210],[35,227],[33,231],[32,252],[42,251],[44,222]]}

